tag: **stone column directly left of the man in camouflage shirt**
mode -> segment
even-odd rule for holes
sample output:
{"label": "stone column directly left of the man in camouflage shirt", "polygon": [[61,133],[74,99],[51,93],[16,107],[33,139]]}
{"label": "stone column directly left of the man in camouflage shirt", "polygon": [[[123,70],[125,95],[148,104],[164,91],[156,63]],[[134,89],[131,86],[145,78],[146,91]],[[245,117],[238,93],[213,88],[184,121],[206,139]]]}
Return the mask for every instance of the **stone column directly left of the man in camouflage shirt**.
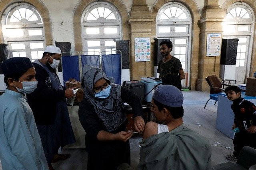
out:
{"label": "stone column directly left of the man in camouflage shirt", "polygon": [[153,75],[153,54],[152,45],[150,46],[150,61],[135,62],[134,54],[134,38],[150,38],[150,42],[153,42],[153,35],[151,30],[151,24],[154,21],[154,17],[146,4],[146,0],[134,0],[132,10],[130,13],[130,79],[140,80],[140,77],[152,77]]}

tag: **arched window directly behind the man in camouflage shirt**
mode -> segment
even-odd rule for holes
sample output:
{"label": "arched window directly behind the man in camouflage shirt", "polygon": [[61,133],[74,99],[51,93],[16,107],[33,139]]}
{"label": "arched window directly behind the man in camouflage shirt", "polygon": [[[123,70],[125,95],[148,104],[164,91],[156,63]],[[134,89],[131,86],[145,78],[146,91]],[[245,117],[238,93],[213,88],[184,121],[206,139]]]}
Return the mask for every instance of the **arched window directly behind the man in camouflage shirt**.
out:
{"label": "arched window directly behind the man in camouflage shirt", "polygon": [[171,55],[180,59],[185,73],[190,72],[191,23],[190,12],[178,2],[164,4],[156,16],[157,38],[171,40]]}

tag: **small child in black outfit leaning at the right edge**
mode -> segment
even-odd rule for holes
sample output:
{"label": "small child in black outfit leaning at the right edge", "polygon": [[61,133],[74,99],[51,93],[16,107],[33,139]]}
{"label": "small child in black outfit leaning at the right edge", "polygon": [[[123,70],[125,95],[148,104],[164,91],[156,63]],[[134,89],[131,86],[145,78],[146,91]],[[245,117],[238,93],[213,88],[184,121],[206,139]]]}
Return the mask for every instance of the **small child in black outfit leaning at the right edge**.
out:
{"label": "small child in black outfit leaning at the right edge", "polygon": [[225,93],[229,100],[233,101],[231,108],[235,114],[234,128],[239,128],[233,140],[234,155],[228,155],[228,160],[236,160],[244,146],[256,149],[256,107],[241,97],[241,90],[237,86],[228,86]]}

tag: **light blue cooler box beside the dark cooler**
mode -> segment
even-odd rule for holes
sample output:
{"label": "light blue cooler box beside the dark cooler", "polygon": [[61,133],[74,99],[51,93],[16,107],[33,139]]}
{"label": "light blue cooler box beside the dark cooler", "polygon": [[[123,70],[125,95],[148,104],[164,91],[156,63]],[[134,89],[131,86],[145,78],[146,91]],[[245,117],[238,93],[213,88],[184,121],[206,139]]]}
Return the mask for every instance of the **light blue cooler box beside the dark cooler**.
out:
{"label": "light blue cooler box beside the dark cooler", "polygon": [[155,86],[162,85],[162,81],[154,80],[155,77],[150,77],[150,78],[148,78],[148,77],[140,78],[140,79],[142,79],[141,82],[145,84],[144,101],[147,101],[147,102],[151,102]]}

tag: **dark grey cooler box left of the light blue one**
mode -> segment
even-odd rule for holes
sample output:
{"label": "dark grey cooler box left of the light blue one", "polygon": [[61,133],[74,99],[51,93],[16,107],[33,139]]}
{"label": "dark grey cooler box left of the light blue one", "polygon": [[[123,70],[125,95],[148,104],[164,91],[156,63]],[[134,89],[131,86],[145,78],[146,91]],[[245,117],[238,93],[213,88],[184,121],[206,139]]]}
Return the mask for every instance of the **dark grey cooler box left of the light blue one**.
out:
{"label": "dark grey cooler box left of the light blue one", "polygon": [[138,81],[138,80],[132,80],[132,81],[126,81],[125,86],[130,89],[130,91],[133,91],[138,97],[140,97],[140,100],[143,101],[144,99],[144,83]]}

